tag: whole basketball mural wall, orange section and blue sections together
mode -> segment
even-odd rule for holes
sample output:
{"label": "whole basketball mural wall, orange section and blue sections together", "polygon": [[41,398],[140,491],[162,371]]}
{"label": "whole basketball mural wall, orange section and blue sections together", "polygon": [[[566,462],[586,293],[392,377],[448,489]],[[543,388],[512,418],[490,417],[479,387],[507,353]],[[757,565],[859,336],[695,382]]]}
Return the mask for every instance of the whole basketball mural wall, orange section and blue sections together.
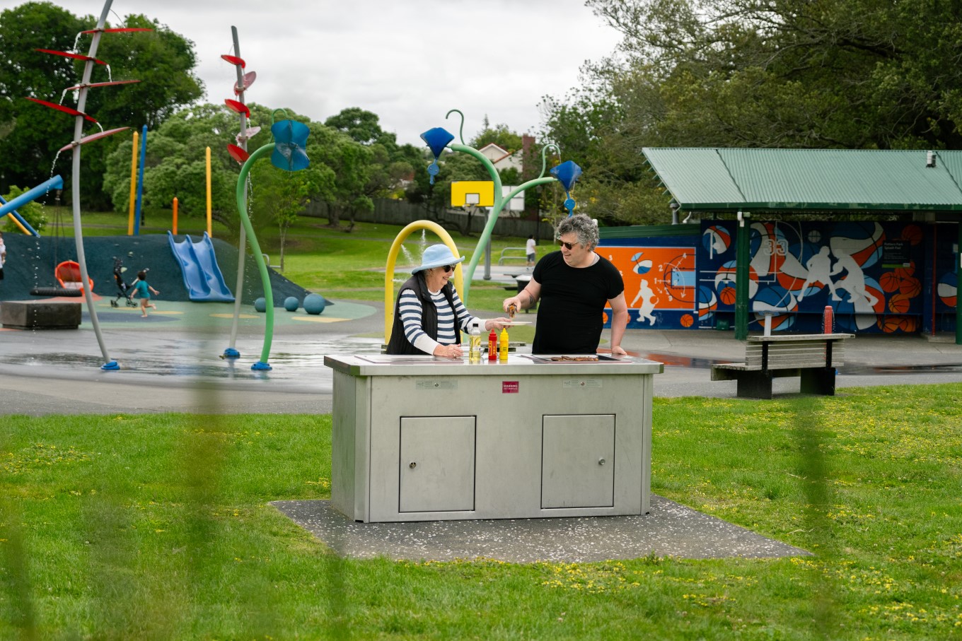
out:
{"label": "whole basketball mural wall, orange section and blue sections together", "polygon": [[698,229],[603,241],[598,253],[624,279],[628,327],[732,326],[740,232],[749,234],[749,331],[761,331],[771,315],[774,332],[818,333],[825,308],[838,332],[954,327],[954,229],[875,221],[755,221],[739,228],[731,220],[702,221]]}

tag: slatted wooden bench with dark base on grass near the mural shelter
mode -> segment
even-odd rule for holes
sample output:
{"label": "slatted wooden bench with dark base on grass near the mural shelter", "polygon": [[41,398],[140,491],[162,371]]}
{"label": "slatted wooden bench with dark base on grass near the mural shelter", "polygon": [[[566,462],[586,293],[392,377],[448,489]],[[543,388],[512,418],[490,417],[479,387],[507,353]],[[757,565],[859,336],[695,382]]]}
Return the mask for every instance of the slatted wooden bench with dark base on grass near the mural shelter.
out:
{"label": "slatted wooden bench with dark base on grass near the mural shelter", "polygon": [[740,398],[771,399],[772,380],[800,377],[801,391],[835,395],[835,368],[844,364],[852,333],[748,336],[745,362],[712,365],[712,381],[738,381]]}

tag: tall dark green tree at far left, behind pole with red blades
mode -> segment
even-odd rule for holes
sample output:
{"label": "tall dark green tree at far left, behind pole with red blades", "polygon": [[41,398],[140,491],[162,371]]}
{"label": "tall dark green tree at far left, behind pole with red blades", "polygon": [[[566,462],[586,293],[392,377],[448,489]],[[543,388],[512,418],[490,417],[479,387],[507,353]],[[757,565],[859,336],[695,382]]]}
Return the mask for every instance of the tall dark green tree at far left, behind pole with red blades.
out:
{"label": "tall dark green tree at far left, behind pole with red blades", "polygon": [[[60,111],[25,100],[33,97],[76,106],[76,96],[64,89],[77,85],[83,62],[36,51],[72,51],[75,38],[96,24],[50,2],[28,2],[0,12],[0,190],[10,185],[34,186],[61,173],[68,183],[69,154],[57,150],[73,136],[74,120]],[[110,25],[109,25],[110,26]],[[91,83],[139,80],[138,84],[89,90],[85,111],[105,129],[146,124],[153,128],[167,115],[188,105],[202,93],[193,74],[192,43],[142,15],[127,16],[113,26],[148,27],[153,32],[108,34],[101,38]],[[90,36],[76,39],[78,53],[87,53]],[[85,123],[85,135],[98,131]],[[92,207],[106,206],[101,189],[106,158],[123,143],[123,135],[105,138],[83,148],[82,197]],[[127,138],[129,144],[129,137]],[[65,192],[69,193],[69,185]]]}

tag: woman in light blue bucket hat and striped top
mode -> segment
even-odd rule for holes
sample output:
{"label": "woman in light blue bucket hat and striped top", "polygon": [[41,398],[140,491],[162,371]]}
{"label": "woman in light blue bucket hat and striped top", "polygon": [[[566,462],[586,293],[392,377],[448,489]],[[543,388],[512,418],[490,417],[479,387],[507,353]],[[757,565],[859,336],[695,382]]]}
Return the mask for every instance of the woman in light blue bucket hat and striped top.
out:
{"label": "woman in light blue bucket hat and striped top", "polygon": [[397,293],[388,354],[460,358],[462,331],[473,327],[500,330],[509,322],[508,318],[483,320],[468,313],[449,283],[455,265],[462,260],[464,257],[455,258],[446,245],[424,250],[420,266],[411,270],[411,278]]}

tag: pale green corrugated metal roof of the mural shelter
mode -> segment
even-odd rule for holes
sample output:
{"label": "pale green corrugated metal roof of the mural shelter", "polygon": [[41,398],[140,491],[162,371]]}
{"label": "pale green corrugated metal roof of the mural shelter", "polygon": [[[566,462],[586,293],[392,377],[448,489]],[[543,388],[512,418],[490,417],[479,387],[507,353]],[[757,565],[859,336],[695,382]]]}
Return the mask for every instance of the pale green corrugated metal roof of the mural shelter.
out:
{"label": "pale green corrugated metal roof of the mural shelter", "polygon": [[962,151],[645,147],[683,211],[962,211]]}

